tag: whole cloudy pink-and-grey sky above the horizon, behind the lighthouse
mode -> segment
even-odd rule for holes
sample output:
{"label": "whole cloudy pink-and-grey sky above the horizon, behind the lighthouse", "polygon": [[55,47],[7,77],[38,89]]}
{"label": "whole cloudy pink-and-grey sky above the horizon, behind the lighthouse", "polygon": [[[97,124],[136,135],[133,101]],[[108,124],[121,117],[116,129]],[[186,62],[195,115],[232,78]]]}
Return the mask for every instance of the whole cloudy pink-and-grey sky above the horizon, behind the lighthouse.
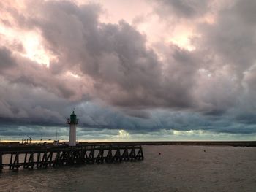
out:
{"label": "whole cloudy pink-and-grey sky above the horizon, behind the lighthouse", "polygon": [[[0,139],[255,140],[256,1],[0,1]],[[57,136],[56,136],[57,132]]]}

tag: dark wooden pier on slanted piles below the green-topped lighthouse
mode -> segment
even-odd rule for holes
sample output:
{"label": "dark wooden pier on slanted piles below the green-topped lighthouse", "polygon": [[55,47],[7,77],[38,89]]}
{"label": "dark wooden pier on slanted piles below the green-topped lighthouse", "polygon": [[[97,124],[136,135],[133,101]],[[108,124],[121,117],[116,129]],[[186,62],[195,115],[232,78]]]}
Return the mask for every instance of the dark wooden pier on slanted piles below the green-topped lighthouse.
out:
{"label": "dark wooden pier on slanted piles below the green-topped lighthouse", "polygon": [[141,145],[6,146],[0,147],[0,172],[6,168],[18,170],[74,164],[119,163],[141,161],[143,158]]}

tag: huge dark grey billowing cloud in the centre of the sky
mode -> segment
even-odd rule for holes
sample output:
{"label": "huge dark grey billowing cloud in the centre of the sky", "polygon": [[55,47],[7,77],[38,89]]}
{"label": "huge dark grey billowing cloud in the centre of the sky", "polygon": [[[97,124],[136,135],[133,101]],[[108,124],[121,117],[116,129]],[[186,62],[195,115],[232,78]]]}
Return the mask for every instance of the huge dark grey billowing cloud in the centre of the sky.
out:
{"label": "huge dark grey billowing cloud in the centre of the sky", "polygon": [[[37,15],[26,18],[24,23],[28,28],[33,26],[41,31],[44,45],[58,56],[59,61],[51,64],[49,70],[41,69],[40,76],[35,72],[34,77],[20,77],[18,81],[30,80],[67,98],[83,94],[62,85],[56,78],[70,70],[82,78],[89,77],[93,83],[91,97],[118,107],[192,105],[194,99],[190,89],[195,82],[197,64],[187,51],[173,47],[167,65],[175,74],[162,76],[163,64],[154,50],[146,47],[146,36],[124,20],[118,24],[99,23],[98,5],[78,7],[67,1],[46,1],[31,6],[37,10]],[[49,72],[54,74],[50,79]],[[86,80],[79,83],[83,81]],[[50,88],[49,84],[52,84]]]}

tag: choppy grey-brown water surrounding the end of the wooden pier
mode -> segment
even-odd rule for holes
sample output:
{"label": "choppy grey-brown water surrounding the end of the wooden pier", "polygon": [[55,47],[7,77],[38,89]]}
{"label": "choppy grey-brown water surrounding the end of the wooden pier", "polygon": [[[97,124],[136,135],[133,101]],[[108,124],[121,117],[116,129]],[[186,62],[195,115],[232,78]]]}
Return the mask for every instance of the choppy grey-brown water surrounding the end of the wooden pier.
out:
{"label": "choppy grey-brown water surrounding the end of the wooden pier", "polygon": [[144,146],[143,152],[140,162],[3,172],[0,191],[256,191],[256,147]]}

